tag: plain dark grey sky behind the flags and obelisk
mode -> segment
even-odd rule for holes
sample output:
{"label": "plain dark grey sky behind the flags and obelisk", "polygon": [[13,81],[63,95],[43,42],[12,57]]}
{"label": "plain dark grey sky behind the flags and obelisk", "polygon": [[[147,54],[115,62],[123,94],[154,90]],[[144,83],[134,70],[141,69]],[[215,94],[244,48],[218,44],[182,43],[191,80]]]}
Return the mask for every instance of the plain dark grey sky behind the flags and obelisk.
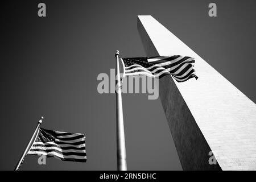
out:
{"label": "plain dark grey sky behind the flags and obelisk", "polygon": [[[38,3],[47,6],[39,18]],[[27,156],[22,170],[115,170],[115,94],[99,94],[114,53],[146,56],[137,15],[152,15],[252,101],[255,1],[11,1],[1,4],[0,169],[13,170],[38,119],[86,135],[86,163]],[[188,55],[189,56],[189,55]],[[127,168],[181,170],[160,100],[123,94]]]}

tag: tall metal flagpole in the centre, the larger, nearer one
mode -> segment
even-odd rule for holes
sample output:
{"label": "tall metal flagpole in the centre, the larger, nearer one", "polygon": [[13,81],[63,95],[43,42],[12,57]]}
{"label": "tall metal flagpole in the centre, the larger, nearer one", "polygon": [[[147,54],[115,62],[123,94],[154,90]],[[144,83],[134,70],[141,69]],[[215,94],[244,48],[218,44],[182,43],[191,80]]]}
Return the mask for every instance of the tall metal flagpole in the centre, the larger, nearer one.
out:
{"label": "tall metal flagpole in the centre, the larger, nearer one", "polygon": [[121,93],[121,79],[119,70],[119,51],[115,52],[116,59],[116,107],[117,107],[117,170],[127,171],[126,165],[126,150],[125,150],[125,129],[123,126],[123,106],[122,106],[122,93]]}

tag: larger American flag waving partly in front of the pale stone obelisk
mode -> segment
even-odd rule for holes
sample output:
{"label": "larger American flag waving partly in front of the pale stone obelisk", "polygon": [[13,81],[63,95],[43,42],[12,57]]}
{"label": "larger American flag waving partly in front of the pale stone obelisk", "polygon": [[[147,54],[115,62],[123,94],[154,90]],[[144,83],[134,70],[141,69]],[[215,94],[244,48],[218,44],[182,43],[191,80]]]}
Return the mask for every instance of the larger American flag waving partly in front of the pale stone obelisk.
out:
{"label": "larger American flag waving partly in front of the pale stone obelisk", "polygon": [[195,59],[188,56],[157,56],[121,58],[125,68],[124,76],[146,75],[162,78],[172,75],[178,82],[183,82],[196,76]]}

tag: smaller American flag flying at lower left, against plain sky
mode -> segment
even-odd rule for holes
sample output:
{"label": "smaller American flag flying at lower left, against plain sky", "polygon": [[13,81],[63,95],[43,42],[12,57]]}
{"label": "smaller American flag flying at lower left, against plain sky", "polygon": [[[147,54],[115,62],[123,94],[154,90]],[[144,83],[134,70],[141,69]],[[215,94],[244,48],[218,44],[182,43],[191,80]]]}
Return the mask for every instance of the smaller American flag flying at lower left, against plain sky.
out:
{"label": "smaller American flag flying at lower left, against plain sky", "polygon": [[27,154],[86,162],[85,136],[80,133],[73,134],[40,128],[38,137]]}

